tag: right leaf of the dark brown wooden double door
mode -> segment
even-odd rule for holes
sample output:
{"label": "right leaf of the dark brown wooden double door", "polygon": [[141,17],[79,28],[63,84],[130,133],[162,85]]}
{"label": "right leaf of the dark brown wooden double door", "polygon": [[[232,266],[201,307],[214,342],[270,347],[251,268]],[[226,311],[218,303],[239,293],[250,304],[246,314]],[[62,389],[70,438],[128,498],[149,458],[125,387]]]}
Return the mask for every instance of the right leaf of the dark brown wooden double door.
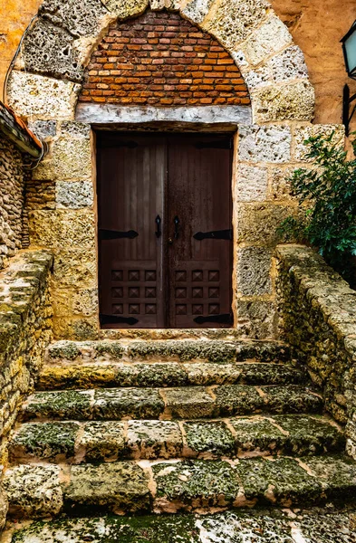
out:
{"label": "right leaf of the dark brown wooden double door", "polygon": [[[171,235],[168,258],[172,328],[231,324],[232,241],[226,236],[232,221],[230,141],[204,135],[168,141],[168,224],[173,234],[178,217],[178,237]],[[225,233],[223,239],[219,232]],[[197,233],[205,235],[196,239]],[[208,233],[217,237],[209,239]],[[186,278],[184,286],[181,277]]]}

